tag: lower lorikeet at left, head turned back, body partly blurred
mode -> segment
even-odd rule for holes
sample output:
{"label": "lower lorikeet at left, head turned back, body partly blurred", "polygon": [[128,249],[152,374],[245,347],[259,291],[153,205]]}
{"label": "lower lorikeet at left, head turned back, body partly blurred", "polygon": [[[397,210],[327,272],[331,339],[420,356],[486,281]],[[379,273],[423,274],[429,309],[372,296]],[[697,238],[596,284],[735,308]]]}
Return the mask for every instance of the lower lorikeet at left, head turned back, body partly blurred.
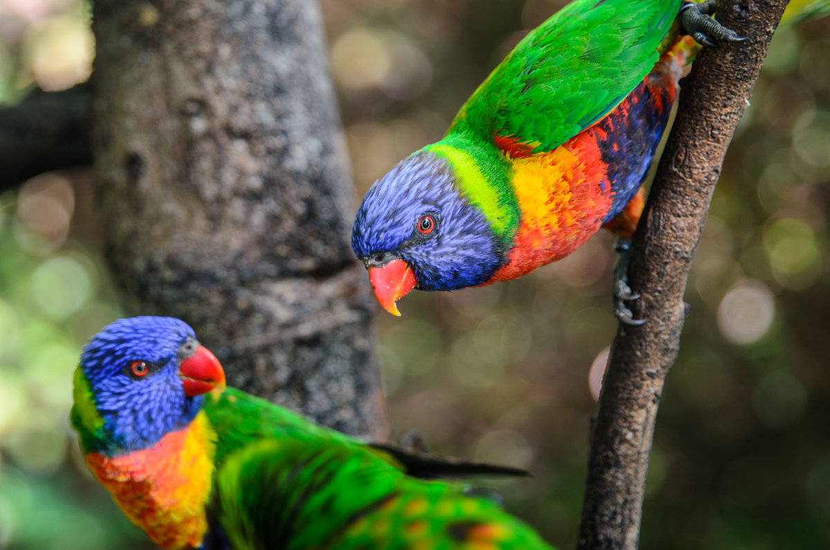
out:
{"label": "lower lorikeet at left, head turned back, body partly blurred", "polygon": [[87,466],[160,548],[550,548],[492,499],[417,479],[522,470],[366,444],[226,389],[178,319],[105,327],[74,397]]}

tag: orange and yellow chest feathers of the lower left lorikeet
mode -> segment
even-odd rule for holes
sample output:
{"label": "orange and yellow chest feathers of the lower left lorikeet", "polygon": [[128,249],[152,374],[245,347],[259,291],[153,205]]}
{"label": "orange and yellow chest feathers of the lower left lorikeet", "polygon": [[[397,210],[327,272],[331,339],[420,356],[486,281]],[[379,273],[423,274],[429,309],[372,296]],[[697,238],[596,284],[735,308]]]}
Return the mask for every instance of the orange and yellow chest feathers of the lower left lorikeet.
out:
{"label": "orange and yellow chest feathers of the lower left lorikeet", "polygon": [[127,518],[159,548],[198,548],[207,531],[216,435],[199,413],[150,449],[86,455],[86,465]]}

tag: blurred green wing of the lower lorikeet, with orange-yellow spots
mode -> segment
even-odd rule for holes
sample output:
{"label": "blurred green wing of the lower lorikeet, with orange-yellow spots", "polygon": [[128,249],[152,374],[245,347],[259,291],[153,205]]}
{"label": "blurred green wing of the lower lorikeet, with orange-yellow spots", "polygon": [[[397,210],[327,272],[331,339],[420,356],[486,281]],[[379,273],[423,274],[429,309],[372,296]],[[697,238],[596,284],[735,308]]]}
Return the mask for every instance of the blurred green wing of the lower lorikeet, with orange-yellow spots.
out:
{"label": "blurred green wing of the lower lorikeet, with orange-yellow spots", "polygon": [[342,443],[251,444],[227,459],[216,489],[212,515],[239,550],[549,548],[495,503]]}

